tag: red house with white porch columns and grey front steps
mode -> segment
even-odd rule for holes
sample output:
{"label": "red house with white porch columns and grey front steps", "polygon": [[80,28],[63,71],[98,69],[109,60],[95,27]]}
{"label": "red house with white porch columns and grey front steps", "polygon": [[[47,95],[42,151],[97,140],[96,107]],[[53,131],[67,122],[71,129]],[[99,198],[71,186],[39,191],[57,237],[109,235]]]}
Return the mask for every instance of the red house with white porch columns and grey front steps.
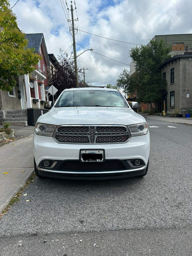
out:
{"label": "red house with white porch columns and grey front steps", "polygon": [[[11,122],[12,125],[27,125],[27,109],[44,108],[46,101],[44,88],[48,86],[47,67],[50,67],[44,35],[43,33],[26,34],[26,38],[28,47],[34,48],[42,60],[36,65],[32,74],[14,77],[17,83],[11,92],[0,90],[0,124]],[[37,81],[30,82],[30,77],[35,77]],[[44,84],[40,86],[38,82]]]}

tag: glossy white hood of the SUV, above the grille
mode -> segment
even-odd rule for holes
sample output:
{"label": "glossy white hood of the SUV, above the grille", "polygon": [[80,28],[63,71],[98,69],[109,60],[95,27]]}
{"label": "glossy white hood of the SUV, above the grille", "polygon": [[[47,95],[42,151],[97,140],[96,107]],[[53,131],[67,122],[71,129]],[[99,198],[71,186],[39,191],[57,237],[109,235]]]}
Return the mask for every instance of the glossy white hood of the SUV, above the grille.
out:
{"label": "glossy white hood of the SUV, above the grille", "polygon": [[131,125],[146,121],[131,108],[53,107],[37,122],[52,125]]}

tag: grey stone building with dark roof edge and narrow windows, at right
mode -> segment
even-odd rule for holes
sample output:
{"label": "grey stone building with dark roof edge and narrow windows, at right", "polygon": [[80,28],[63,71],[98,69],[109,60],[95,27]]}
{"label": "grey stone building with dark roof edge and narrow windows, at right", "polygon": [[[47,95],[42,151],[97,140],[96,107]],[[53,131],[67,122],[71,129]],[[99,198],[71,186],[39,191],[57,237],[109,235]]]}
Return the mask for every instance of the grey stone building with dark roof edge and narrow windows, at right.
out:
{"label": "grey stone building with dark roof edge and narrow windows, at right", "polygon": [[162,107],[168,113],[192,109],[192,54],[177,54],[159,67],[167,81],[167,91],[162,97]]}

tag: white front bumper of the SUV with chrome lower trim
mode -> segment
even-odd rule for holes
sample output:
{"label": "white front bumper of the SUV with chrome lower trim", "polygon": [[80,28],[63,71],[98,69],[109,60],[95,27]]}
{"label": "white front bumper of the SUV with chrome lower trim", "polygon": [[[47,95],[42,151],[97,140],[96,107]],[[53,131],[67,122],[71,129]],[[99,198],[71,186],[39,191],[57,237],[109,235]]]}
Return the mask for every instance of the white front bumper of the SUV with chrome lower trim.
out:
{"label": "white front bumper of the SUV with chrome lower trim", "polygon": [[[127,143],[118,144],[61,144],[52,137],[34,134],[34,157],[41,176],[64,179],[117,179],[138,176],[145,173],[149,160],[149,133],[131,137]],[[82,149],[104,149],[104,162],[81,162]],[[140,160],[140,166],[131,161]],[[49,168],[44,161],[55,164]]]}

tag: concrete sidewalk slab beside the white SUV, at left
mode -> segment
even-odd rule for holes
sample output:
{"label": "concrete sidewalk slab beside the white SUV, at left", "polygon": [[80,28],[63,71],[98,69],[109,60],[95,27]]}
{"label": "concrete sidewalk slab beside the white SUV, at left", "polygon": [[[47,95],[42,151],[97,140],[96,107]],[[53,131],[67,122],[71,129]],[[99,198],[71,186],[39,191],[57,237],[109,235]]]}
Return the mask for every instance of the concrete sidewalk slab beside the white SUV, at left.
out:
{"label": "concrete sidewalk slab beside the white SUV, at left", "polygon": [[1,212],[34,172],[33,135],[1,146],[0,156]]}

